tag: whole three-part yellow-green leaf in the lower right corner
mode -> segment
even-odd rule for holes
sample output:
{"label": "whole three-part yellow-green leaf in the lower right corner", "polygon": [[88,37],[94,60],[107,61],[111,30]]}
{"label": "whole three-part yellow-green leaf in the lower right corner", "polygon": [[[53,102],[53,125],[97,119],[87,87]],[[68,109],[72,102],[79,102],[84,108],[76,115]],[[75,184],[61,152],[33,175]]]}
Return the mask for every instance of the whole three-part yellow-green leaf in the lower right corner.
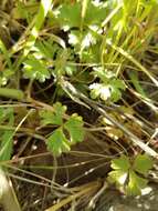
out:
{"label": "whole three-part yellow-green leaf in the lower right corner", "polygon": [[141,194],[141,190],[147,187],[146,177],[154,161],[147,154],[138,154],[133,160],[123,154],[112,160],[113,170],[108,173],[108,181],[115,182],[127,194]]}

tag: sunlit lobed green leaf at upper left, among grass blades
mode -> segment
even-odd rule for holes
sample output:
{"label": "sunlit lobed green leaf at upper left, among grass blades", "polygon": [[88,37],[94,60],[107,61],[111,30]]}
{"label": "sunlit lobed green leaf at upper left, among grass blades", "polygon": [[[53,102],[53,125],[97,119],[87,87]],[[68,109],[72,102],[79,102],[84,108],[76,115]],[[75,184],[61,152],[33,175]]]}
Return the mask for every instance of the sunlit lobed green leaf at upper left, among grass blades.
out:
{"label": "sunlit lobed green leaf at upper left, among grass blades", "polygon": [[38,60],[35,57],[31,56],[23,62],[23,64],[25,78],[36,79],[40,82],[44,82],[45,79],[50,79],[50,72],[44,61]]}

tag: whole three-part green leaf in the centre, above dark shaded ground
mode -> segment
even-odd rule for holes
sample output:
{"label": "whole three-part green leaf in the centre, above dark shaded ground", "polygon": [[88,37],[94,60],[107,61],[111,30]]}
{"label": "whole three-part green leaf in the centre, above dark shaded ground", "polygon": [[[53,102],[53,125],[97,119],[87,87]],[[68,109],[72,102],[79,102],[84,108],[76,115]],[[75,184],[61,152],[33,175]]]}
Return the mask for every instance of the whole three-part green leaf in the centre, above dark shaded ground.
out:
{"label": "whole three-part green leaf in the centre, above dark shaded ground", "polygon": [[40,111],[41,125],[53,124],[56,129],[46,138],[48,149],[54,155],[71,150],[71,145],[83,141],[84,129],[82,117],[76,113],[72,114],[64,121],[66,107],[56,102],[53,105],[54,111]]}

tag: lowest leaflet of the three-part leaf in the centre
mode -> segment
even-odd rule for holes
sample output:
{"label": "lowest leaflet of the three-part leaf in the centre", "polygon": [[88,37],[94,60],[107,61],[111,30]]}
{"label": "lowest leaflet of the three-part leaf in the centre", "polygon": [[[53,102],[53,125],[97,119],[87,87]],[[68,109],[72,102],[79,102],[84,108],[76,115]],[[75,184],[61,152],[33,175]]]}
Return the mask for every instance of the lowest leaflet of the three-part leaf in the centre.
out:
{"label": "lowest leaflet of the three-part leaf in the centre", "polygon": [[54,132],[48,138],[46,144],[48,149],[53,152],[54,155],[60,155],[62,152],[70,151],[70,143],[61,128],[54,130]]}

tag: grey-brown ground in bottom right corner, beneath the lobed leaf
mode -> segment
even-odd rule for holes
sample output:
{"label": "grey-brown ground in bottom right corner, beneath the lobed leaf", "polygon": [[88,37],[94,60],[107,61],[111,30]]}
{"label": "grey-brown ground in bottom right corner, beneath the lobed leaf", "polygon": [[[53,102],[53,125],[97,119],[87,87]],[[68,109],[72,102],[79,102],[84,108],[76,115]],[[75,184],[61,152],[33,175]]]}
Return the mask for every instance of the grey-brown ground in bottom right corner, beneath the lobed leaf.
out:
{"label": "grey-brown ground in bottom right corner, beneath the lobed leaf", "polygon": [[[150,192],[149,192],[150,191]],[[141,197],[125,197],[116,191],[104,193],[95,211],[157,211],[158,185],[150,184],[148,193]]]}

